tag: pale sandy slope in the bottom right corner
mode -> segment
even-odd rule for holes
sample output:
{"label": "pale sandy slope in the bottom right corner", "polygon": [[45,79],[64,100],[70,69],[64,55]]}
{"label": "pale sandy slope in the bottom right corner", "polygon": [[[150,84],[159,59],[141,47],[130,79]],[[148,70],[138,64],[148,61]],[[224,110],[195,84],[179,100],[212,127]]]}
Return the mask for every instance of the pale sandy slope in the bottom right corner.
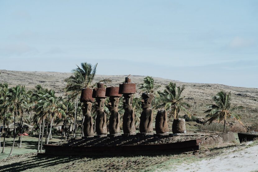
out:
{"label": "pale sandy slope in the bottom right corner", "polygon": [[223,156],[214,159],[202,160],[198,163],[182,164],[177,168],[173,167],[170,171],[258,171],[258,145],[246,148],[239,152],[225,152]]}

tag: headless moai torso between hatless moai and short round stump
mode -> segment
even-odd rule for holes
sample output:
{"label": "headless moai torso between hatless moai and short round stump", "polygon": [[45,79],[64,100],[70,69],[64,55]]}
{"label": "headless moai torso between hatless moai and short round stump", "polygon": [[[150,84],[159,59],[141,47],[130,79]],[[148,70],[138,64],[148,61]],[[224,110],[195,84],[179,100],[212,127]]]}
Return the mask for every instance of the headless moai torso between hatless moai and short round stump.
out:
{"label": "headless moai torso between hatless moai and short round stump", "polygon": [[165,110],[158,110],[155,120],[156,134],[167,135],[169,132],[167,112]]}

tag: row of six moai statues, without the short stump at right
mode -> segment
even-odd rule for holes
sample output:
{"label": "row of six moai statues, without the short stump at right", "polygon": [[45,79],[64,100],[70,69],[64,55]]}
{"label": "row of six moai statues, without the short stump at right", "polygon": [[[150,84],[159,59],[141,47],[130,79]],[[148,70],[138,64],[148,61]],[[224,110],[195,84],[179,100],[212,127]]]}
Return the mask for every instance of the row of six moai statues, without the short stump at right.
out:
{"label": "row of six moai statues, without the short stump at right", "polygon": [[[119,84],[119,87],[104,88],[104,83],[97,83],[97,88],[83,88],[81,91],[80,101],[83,103],[83,115],[85,116],[83,122],[84,137],[93,137],[93,118],[91,116],[91,108],[94,99],[96,108],[95,131],[97,136],[115,137],[121,135],[120,131],[120,114],[118,113],[118,103],[120,97],[123,95],[123,108],[125,110],[123,115],[123,135],[135,135],[135,113],[132,107],[133,96],[136,93],[136,84],[131,83],[131,78],[126,77],[125,83]],[[104,112],[105,99],[109,97],[108,109],[110,111],[109,125],[107,130],[107,119]],[[151,102],[153,99],[152,93],[142,93],[141,107],[143,109],[140,117],[139,130],[143,135],[153,133],[153,112],[151,109]],[[167,114],[164,110],[159,110],[155,118],[156,134],[168,134]]]}

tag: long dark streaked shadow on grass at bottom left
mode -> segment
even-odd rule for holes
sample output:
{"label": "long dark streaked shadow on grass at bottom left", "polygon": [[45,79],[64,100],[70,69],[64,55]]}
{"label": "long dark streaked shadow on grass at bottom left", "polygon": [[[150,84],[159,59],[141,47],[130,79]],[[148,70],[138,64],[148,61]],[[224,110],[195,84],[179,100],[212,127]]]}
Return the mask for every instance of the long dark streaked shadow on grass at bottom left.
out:
{"label": "long dark streaked shadow on grass at bottom left", "polygon": [[35,156],[32,159],[8,164],[8,165],[2,165],[0,167],[1,171],[24,171],[33,169],[35,167],[47,167],[47,166],[53,166],[58,164],[67,163],[70,161],[78,160],[79,157],[63,157],[63,156],[56,156],[56,157],[39,157]]}

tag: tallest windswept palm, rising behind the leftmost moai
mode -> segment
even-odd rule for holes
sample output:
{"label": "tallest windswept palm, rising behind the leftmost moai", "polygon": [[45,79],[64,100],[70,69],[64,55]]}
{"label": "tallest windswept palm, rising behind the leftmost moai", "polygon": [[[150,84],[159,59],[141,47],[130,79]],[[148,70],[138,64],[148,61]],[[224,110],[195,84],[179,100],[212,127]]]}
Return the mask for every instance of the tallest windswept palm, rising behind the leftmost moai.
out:
{"label": "tallest windswept palm, rising behind the leftmost moai", "polygon": [[75,99],[75,116],[74,116],[74,133],[75,137],[76,133],[76,118],[77,118],[77,108],[78,108],[78,97],[81,93],[82,88],[90,88],[92,87],[93,79],[96,75],[96,68],[92,66],[90,63],[83,62],[81,63],[81,67],[77,66],[76,69],[72,70],[73,75],[69,78],[65,79],[67,82],[65,90],[71,94],[71,96]]}

